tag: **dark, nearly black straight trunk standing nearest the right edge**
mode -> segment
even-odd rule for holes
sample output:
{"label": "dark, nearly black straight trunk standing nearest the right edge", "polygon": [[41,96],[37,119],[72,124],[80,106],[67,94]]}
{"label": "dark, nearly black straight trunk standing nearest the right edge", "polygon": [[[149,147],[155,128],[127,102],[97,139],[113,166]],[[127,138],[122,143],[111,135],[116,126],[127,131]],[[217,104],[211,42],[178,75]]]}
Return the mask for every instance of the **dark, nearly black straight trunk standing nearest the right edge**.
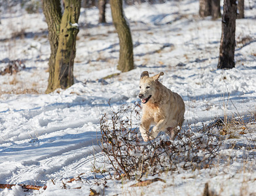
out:
{"label": "dark, nearly black straight trunk standing nearest the right edge", "polygon": [[218,69],[231,69],[235,66],[235,33],[236,0],[224,0]]}

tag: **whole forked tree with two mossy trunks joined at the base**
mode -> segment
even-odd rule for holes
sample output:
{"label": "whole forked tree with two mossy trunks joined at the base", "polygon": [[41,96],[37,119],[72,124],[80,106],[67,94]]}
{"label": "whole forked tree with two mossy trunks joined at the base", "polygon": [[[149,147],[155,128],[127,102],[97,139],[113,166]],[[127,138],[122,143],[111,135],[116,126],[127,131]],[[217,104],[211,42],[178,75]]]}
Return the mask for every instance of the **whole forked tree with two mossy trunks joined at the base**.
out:
{"label": "whole forked tree with two mossy trunks joined at the base", "polygon": [[43,10],[48,24],[48,39],[51,55],[49,59],[49,78],[46,93],[57,88],[68,88],[74,83],[73,63],[75,41],[81,0],[65,0],[64,14],[61,14],[60,0],[43,0]]}

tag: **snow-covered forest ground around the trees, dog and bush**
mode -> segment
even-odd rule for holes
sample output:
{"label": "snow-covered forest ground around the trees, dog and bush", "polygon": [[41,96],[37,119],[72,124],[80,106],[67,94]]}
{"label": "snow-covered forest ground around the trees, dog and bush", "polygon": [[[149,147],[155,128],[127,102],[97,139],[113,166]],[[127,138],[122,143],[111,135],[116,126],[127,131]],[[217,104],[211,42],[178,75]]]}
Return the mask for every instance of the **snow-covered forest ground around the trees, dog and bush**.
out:
{"label": "snow-covered forest ground around the trees, dog and bush", "polygon": [[[97,144],[101,115],[131,105],[139,75],[164,72],[160,81],[179,93],[186,105],[185,125],[207,124],[220,116],[255,115],[256,2],[245,1],[246,18],[236,20],[236,68],[218,70],[221,19],[199,18],[195,0],[125,6],[134,42],[136,69],[117,70],[119,39],[111,23],[98,24],[97,8],[81,10],[74,75],[67,90],[45,94],[50,46],[43,13],[17,7],[1,13],[0,69],[20,59],[26,69],[0,75],[0,184],[30,184],[47,189],[24,192],[15,186],[1,195],[88,195],[94,167],[105,158]],[[109,74],[117,74],[105,78]],[[255,118],[255,116],[254,116]],[[255,122],[255,120],[254,120]],[[139,121],[134,122],[136,125]],[[105,195],[202,195],[209,182],[219,195],[256,195],[255,123],[236,127],[236,139],[224,141],[219,163],[208,169],[166,172],[147,187],[108,180]],[[239,134],[240,131],[243,134]],[[239,144],[241,148],[231,148]],[[67,181],[81,176],[82,180]],[[155,176],[145,176],[155,178]],[[64,189],[64,184],[67,188]],[[80,189],[75,189],[75,188]]]}

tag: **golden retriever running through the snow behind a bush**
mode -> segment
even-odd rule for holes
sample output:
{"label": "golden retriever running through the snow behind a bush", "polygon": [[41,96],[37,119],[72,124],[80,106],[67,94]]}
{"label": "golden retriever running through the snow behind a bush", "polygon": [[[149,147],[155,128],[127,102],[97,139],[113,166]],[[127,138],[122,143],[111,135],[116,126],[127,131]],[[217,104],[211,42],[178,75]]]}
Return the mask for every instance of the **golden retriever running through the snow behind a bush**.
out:
{"label": "golden retriever running through the snow behind a bush", "polygon": [[[147,71],[141,73],[139,99],[143,109],[139,131],[145,142],[155,139],[160,131],[166,131],[170,139],[174,140],[184,121],[184,101],[180,95],[158,81],[162,75],[163,72],[149,77]],[[149,133],[152,124],[155,127]]]}

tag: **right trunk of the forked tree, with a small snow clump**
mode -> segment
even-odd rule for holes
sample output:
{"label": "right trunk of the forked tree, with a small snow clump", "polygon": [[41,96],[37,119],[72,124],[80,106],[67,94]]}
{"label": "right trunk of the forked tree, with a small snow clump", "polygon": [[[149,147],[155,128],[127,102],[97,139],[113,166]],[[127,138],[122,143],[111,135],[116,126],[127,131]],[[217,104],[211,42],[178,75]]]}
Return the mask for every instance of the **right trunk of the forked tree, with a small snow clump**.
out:
{"label": "right trunk of the forked tree, with a small snow clump", "polygon": [[60,24],[59,46],[55,59],[54,89],[68,88],[74,84],[73,65],[75,42],[79,32],[78,20],[81,0],[65,0],[65,10]]}

